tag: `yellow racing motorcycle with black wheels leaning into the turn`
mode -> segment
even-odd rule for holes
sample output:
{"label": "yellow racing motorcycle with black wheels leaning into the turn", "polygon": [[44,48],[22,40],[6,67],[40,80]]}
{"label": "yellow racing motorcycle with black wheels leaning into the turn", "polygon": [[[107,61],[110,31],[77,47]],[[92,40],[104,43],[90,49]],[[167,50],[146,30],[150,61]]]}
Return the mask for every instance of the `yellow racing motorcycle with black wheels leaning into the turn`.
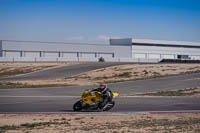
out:
{"label": "yellow racing motorcycle with black wheels leaning into the turn", "polygon": [[[111,94],[111,99],[113,99],[113,97],[118,96],[118,93],[112,93]],[[83,92],[81,100],[77,101],[74,106],[73,106],[73,110],[74,111],[108,111],[111,108],[114,107],[115,105],[115,101],[113,100],[109,100],[106,101],[106,104],[104,105],[104,107],[100,107],[101,103],[103,102],[103,96],[102,93],[99,91],[94,91],[92,89],[90,90],[86,90]]]}

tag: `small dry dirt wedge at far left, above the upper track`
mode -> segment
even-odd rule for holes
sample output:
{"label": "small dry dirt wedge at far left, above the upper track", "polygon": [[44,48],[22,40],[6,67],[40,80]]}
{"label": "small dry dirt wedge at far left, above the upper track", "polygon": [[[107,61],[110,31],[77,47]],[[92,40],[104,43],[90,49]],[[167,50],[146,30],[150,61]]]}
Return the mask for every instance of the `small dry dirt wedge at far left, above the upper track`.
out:
{"label": "small dry dirt wedge at far left, above the upper track", "polygon": [[60,63],[0,63],[0,77],[8,77],[19,74],[30,73],[53,67],[67,66],[75,64],[74,62]]}

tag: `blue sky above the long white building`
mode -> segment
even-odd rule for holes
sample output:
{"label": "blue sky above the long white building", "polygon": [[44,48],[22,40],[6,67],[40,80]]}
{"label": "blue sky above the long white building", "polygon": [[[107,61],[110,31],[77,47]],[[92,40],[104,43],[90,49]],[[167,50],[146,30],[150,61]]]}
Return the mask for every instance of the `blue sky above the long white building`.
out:
{"label": "blue sky above the long white building", "polygon": [[0,39],[200,41],[200,0],[0,0]]}

